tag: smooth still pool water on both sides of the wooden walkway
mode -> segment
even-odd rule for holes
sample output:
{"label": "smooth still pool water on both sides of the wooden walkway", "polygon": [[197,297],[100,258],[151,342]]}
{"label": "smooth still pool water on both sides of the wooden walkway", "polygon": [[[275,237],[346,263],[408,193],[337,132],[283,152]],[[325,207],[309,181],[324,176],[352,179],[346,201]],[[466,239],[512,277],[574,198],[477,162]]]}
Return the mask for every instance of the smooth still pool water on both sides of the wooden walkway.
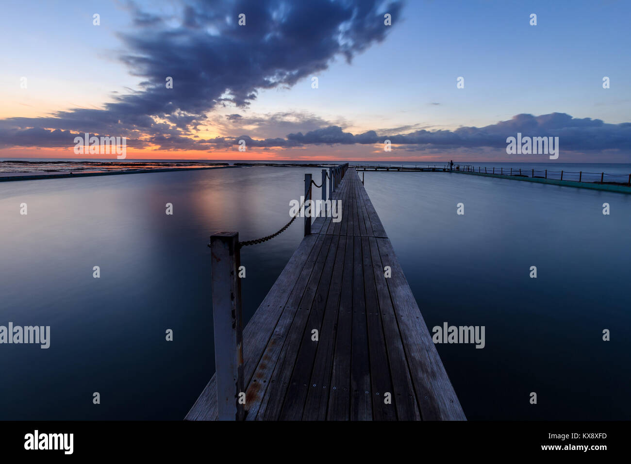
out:
{"label": "smooth still pool water on both sides of the wooden walkway", "polygon": [[[305,172],[319,181],[257,167],[0,184],[0,324],[51,326],[47,350],[0,345],[0,419],[182,419],[213,374],[208,235],[275,232]],[[428,326],[486,326],[484,349],[437,345],[469,419],[631,419],[631,196],[445,173],[365,186]],[[242,251],[245,318],[301,239],[294,224]]]}

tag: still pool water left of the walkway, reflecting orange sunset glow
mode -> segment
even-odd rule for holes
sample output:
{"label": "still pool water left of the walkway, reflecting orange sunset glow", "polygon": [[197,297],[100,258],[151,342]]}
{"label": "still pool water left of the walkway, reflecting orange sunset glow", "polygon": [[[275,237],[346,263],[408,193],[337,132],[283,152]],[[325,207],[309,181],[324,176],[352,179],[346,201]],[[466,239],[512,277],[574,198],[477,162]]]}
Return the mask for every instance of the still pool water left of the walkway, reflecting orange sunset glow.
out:
{"label": "still pool water left of the walkway, reflecting orange sunset glow", "polygon": [[[304,173],[242,168],[0,184],[0,325],[51,333],[47,350],[0,345],[0,419],[183,419],[214,372],[209,234],[276,232],[289,201],[304,192]],[[302,233],[294,225],[242,252],[246,320]]]}

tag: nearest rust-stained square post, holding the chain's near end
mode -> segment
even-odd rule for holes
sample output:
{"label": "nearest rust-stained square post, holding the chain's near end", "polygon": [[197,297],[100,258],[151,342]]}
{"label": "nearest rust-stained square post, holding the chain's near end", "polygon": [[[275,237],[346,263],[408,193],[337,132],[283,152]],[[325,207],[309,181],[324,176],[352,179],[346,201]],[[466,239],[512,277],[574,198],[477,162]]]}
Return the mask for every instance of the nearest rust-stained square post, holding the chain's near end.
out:
{"label": "nearest rust-stained square post, holding the chain's near end", "polygon": [[239,396],[245,395],[239,232],[216,232],[210,237],[210,248],[218,419],[243,420],[245,405],[239,402]]}

